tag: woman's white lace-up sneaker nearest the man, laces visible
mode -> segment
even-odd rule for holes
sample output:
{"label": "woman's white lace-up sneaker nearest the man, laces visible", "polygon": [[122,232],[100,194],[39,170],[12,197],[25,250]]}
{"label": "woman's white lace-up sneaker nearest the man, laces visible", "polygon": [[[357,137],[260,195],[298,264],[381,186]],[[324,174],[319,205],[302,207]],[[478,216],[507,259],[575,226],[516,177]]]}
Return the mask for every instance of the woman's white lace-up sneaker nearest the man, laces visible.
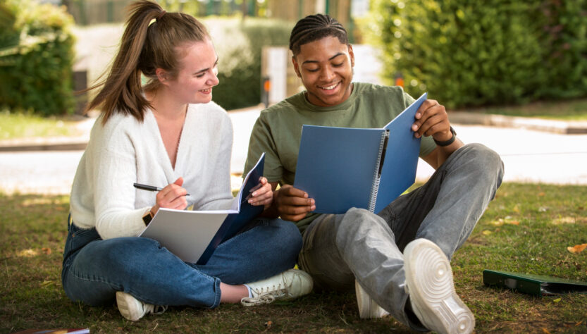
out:
{"label": "woman's white lace-up sneaker nearest the man, laces visible", "polygon": [[248,283],[253,297],[240,299],[245,306],[269,304],[275,300],[294,299],[311,292],[314,281],[305,271],[290,269],[276,276]]}

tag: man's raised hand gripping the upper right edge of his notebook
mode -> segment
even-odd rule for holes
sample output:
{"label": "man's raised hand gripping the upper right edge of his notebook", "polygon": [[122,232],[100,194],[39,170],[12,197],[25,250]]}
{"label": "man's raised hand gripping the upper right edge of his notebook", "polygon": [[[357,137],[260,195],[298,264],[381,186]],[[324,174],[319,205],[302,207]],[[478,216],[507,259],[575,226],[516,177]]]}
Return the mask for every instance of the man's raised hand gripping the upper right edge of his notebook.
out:
{"label": "man's raised hand gripping the upper right edge of his notebook", "polygon": [[436,100],[426,100],[422,103],[416,111],[416,121],[412,125],[412,130],[416,138],[432,136],[438,142],[452,138],[446,109]]}

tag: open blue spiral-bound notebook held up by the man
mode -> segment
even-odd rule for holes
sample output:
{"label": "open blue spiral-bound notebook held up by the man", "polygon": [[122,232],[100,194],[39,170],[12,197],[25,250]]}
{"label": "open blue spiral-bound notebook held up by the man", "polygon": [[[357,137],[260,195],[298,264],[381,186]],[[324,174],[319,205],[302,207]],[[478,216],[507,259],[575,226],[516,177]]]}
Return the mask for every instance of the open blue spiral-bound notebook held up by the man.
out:
{"label": "open blue spiral-bound notebook held up by the man", "polygon": [[414,184],[420,138],[412,124],[424,100],[426,93],[379,129],[302,127],[294,187],[316,201],[314,212],[377,213]]}

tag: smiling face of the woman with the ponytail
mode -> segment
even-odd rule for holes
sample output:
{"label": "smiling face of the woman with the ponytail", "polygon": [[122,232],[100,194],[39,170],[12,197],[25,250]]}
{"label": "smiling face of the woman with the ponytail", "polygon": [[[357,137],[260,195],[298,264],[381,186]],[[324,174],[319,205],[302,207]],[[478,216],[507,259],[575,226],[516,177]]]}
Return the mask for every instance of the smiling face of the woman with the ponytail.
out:
{"label": "smiling face of the woman with the ponytail", "polygon": [[218,56],[210,39],[178,48],[179,72],[168,88],[182,104],[208,103],[218,85]]}

